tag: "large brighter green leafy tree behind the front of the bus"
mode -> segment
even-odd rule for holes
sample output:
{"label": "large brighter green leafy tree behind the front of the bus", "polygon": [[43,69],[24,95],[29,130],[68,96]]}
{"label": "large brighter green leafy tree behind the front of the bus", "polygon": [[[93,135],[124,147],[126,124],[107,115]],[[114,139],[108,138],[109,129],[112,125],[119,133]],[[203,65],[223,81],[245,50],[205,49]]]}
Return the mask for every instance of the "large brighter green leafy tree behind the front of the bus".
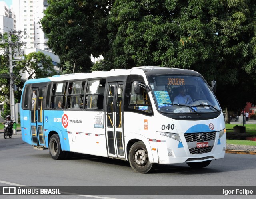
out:
{"label": "large brighter green leafy tree behind the front of the bus", "polygon": [[239,109],[256,99],[255,11],[252,0],[116,0],[104,59],[194,69],[217,80],[223,108]]}

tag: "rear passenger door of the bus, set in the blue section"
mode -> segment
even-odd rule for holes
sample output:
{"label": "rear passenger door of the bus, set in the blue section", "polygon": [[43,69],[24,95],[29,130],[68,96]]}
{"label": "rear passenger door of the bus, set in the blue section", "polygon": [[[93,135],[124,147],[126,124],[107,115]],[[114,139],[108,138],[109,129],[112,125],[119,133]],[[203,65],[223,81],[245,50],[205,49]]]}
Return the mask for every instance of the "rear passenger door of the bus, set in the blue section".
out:
{"label": "rear passenger door of the bus, set in the blue section", "polygon": [[45,87],[32,89],[30,129],[32,145],[46,146],[44,139],[43,99]]}

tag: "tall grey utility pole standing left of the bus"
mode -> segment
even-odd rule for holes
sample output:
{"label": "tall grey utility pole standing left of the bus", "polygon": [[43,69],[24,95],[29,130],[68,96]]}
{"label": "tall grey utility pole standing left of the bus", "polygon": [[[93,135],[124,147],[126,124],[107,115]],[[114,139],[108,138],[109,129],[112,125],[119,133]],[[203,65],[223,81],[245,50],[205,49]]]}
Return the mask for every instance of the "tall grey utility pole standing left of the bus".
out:
{"label": "tall grey utility pole standing left of the bus", "polygon": [[[10,70],[10,108],[11,108],[11,119],[15,121],[15,99],[14,99],[14,82],[13,82],[13,68],[12,68],[12,32],[9,31],[9,70]],[[16,135],[16,130],[13,129],[13,134]]]}

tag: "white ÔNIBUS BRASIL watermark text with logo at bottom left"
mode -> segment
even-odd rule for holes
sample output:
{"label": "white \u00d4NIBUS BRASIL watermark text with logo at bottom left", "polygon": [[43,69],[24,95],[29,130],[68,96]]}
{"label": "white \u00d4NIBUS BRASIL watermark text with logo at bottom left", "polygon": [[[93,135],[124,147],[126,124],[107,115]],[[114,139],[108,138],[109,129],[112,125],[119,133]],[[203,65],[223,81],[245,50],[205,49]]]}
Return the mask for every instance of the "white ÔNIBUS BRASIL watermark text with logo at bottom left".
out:
{"label": "white \u00d4NIBUS BRASIL watermark text with logo at bottom left", "polygon": [[58,188],[3,187],[4,195],[60,195]]}

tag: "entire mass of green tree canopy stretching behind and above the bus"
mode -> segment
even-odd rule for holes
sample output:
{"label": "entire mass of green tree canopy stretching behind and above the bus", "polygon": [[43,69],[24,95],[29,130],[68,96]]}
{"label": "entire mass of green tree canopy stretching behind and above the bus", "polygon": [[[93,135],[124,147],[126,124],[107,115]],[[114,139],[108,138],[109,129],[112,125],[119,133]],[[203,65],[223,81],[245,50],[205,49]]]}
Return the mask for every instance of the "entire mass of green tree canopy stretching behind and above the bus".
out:
{"label": "entire mass of green tree canopy stretching behind and above the bus", "polygon": [[[222,107],[256,99],[253,0],[50,0],[42,28],[61,60],[90,69],[159,65],[193,69],[218,83]],[[98,66],[97,66],[98,67]]]}

